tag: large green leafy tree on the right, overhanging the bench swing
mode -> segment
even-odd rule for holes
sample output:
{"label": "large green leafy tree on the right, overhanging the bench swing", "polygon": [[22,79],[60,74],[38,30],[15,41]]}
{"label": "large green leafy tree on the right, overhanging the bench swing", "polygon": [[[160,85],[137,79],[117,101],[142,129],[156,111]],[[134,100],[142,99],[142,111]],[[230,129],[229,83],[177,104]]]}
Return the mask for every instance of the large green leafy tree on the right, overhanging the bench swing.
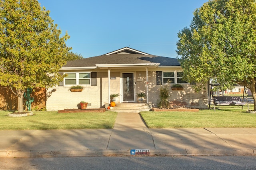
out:
{"label": "large green leafy tree on the right, overhanging the bench swing", "polygon": [[178,37],[176,52],[187,81],[197,88],[209,80],[246,86],[256,110],[255,0],[209,0]]}

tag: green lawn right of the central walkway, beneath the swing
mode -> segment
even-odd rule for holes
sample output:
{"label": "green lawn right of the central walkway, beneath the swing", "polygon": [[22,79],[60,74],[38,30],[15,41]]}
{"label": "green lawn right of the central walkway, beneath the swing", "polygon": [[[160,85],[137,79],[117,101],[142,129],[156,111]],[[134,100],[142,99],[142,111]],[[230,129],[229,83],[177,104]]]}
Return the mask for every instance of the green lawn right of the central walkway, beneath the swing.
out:
{"label": "green lawn right of the central walkway, beneath the swing", "polygon": [[140,113],[149,128],[256,127],[256,114],[240,109]]}

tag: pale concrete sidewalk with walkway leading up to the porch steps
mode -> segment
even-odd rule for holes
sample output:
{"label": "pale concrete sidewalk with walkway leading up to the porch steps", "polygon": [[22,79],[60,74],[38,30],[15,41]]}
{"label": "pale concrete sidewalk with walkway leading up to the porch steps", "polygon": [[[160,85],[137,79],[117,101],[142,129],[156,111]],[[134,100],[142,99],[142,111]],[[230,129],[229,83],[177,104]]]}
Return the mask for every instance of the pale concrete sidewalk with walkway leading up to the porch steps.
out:
{"label": "pale concrete sidewalk with walkway leading up to the porch steps", "polygon": [[0,131],[1,157],[255,154],[256,128],[148,129],[118,113],[114,129]]}

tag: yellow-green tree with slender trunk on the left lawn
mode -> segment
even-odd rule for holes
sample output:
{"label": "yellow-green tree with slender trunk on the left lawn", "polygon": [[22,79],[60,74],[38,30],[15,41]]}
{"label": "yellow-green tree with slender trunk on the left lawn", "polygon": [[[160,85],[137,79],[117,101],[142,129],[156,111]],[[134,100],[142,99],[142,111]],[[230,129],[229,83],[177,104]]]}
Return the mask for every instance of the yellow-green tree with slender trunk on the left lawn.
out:
{"label": "yellow-green tree with slender trunk on the left lawn", "polygon": [[23,111],[24,89],[50,87],[62,76],[66,64],[66,33],[60,37],[49,16],[37,0],[0,0],[0,85],[18,96],[18,111]]}

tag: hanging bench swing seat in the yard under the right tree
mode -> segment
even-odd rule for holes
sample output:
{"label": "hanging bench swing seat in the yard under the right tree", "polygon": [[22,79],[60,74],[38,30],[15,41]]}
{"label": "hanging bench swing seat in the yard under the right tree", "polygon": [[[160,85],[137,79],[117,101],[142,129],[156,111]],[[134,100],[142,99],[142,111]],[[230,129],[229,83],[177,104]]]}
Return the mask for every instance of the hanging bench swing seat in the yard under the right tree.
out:
{"label": "hanging bench swing seat in the yard under the right tree", "polygon": [[246,103],[241,102],[237,96],[213,96],[215,106],[243,106]]}

